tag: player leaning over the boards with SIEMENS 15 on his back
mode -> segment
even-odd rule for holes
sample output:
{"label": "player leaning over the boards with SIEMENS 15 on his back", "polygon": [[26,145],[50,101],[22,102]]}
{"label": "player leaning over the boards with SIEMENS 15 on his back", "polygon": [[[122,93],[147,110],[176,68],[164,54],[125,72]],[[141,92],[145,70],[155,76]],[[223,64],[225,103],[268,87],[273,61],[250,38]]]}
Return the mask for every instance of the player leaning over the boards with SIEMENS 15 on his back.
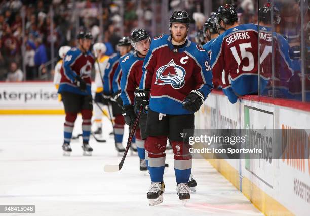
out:
{"label": "player leaning over the boards with SIEMENS 15 on his back", "polygon": [[236,103],[238,96],[258,93],[258,29],[255,24],[238,25],[230,4],[219,7],[215,18],[218,32],[225,32],[212,44],[213,79],[220,80],[224,94]]}

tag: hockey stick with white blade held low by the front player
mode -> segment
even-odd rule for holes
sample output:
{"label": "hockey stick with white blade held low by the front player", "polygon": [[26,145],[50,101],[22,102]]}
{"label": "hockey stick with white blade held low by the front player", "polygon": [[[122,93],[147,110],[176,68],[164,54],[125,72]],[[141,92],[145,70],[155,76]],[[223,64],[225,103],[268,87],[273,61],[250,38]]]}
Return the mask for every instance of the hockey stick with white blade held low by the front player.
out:
{"label": "hockey stick with white blade held low by the front player", "polygon": [[126,158],[126,155],[128,153],[128,150],[130,148],[130,145],[131,145],[131,141],[132,141],[132,138],[136,132],[136,128],[137,128],[137,125],[139,123],[139,119],[140,119],[140,116],[141,116],[141,113],[142,113],[142,106],[140,107],[140,110],[139,110],[139,113],[138,113],[138,116],[137,116],[137,119],[132,127],[132,130],[129,134],[129,137],[128,137],[128,141],[127,141],[127,145],[126,145],[126,149],[125,149],[125,152],[124,152],[124,155],[123,155],[123,158],[121,160],[121,162],[118,164],[118,165],[109,165],[109,164],[106,164],[104,165],[104,171],[105,172],[117,172],[117,171],[120,171],[123,167],[123,164],[124,164],[124,161],[125,161],[125,158]]}

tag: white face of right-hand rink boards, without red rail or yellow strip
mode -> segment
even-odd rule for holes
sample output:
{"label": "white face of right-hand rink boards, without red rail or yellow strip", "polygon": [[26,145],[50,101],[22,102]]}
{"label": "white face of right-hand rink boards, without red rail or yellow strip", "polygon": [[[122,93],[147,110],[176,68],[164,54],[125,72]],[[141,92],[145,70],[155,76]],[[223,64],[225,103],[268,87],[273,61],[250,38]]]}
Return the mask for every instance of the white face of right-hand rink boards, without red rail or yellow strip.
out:
{"label": "white face of right-hand rink boards, without red rail or yellow strip", "polygon": [[[245,109],[249,109],[249,120],[245,119]],[[237,121],[234,123],[237,128],[245,128],[247,121],[254,128],[310,128],[309,112],[246,99],[231,104],[224,95],[217,93],[209,95],[203,109],[196,113],[196,119],[200,120],[196,122],[196,128],[204,128],[206,124],[203,119],[206,118],[209,118],[206,122],[210,122],[210,119],[217,120],[215,124],[207,124],[207,126],[211,125],[211,128],[231,128],[231,121],[223,124],[222,119]],[[307,132],[309,139],[309,131]],[[310,149],[308,144],[309,142],[304,150]],[[306,188],[300,185],[310,188],[309,159],[300,160],[303,166],[299,167],[294,165],[292,160],[282,158],[272,159],[271,163],[252,159],[248,169],[246,169],[245,159],[240,159],[239,162],[226,161],[239,172],[241,191],[242,178],[246,177],[293,214],[308,215],[310,197],[305,197]],[[301,192],[302,189],[303,192]],[[310,194],[309,189],[307,192]]]}

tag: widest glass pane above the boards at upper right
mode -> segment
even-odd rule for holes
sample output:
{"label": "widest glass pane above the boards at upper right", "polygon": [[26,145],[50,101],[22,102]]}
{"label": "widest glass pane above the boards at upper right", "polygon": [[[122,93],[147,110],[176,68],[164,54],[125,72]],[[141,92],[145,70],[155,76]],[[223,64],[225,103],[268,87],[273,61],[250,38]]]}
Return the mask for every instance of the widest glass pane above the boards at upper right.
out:
{"label": "widest glass pane above the boards at upper right", "polygon": [[279,10],[281,19],[277,23],[277,9],[272,11],[273,31],[273,96],[301,100],[301,25],[300,1],[272,1]]}

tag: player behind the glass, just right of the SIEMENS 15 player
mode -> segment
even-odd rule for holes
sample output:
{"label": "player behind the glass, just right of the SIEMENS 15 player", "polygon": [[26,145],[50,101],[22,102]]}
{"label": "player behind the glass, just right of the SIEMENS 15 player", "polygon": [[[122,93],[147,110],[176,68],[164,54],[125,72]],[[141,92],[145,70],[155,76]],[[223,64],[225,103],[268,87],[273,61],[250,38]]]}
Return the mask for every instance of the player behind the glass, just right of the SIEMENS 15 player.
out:
{"label": "player behind the glass, just right of the SIEMENS 15 player", "polygon": [[[288,41],[280,34],[271,30],[272,24],[279,24],[281,17],[276,7],[266,3],[259,9],[259,63],[260,76],[268,80],[268,84],[261,92],[262,95],[272,96],[274,86],[275,97],[291,98],[289,95],[289,80],[293,75],[292,61],[289,55]],[[272,40],[273,35],[273,40]],[[274,55],[272,55],[272,42]],[[272,80],[272,58],[275,59],[274,79]]]}

